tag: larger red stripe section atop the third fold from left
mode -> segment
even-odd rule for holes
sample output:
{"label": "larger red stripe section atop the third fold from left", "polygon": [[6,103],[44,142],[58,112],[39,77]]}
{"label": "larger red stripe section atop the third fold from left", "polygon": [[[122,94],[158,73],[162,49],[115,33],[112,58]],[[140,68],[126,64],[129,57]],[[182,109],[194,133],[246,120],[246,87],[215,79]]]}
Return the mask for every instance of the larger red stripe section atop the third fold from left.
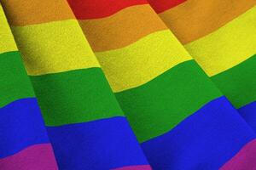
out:
{"label": "larger red stripe section atop the third fold from left", "polygon": [[79,20],[107,17],[132,5],[146,4],[147,0],[67,0]]}

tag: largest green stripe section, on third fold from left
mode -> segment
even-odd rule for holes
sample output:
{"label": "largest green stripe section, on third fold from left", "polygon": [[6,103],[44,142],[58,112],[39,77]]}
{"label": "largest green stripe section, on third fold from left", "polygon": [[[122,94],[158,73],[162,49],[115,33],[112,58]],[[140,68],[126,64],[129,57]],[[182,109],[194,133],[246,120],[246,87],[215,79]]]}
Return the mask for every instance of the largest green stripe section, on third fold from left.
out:
{"label": "largest green stripe section, on third fold from left", "polygon": [[116,97],[137,139],[144,142],[168,132],[221,95],[195,61],[189,60]]}

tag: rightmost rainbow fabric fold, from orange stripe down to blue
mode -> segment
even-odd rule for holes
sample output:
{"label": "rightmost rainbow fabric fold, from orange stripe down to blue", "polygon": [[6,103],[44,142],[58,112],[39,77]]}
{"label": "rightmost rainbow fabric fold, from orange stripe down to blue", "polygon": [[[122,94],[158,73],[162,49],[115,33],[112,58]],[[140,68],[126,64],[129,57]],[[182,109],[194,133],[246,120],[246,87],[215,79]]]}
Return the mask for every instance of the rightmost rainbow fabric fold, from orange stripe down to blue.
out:
{"label": "rightmost rainbow fabric fold, from orange stripe down to blue", "polygon": [[[152,7],[158,11],[154,3]],[[166,26],[183,42],[189,54],[254,130],[255,5],[255,0],[191,0],[159,13]]]}

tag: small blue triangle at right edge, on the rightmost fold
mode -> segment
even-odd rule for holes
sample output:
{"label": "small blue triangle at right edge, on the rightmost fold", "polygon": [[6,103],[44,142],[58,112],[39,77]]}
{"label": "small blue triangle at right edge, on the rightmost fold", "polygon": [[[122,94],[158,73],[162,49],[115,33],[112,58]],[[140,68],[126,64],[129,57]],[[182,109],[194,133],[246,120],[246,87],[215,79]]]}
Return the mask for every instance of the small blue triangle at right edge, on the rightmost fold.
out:
{"label": "small blue triangle at right edge, on the rightmost fold", "polygon": [[253,128],[254,132],[256,132],[256,102],[244,105],[238,111],[248,125]]}

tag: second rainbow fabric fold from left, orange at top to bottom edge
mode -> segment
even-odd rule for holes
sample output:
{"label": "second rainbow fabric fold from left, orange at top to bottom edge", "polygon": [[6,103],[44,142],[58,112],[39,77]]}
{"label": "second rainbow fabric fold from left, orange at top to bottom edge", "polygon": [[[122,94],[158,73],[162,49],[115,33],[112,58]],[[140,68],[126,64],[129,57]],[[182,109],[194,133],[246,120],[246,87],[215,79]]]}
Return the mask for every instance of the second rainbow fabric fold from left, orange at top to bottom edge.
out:
{"label": "second rainbow fabric fold from left, orange at top to bottom edge", "polygon": [[60,169],[151,169],[68,3],[3,8]]}

